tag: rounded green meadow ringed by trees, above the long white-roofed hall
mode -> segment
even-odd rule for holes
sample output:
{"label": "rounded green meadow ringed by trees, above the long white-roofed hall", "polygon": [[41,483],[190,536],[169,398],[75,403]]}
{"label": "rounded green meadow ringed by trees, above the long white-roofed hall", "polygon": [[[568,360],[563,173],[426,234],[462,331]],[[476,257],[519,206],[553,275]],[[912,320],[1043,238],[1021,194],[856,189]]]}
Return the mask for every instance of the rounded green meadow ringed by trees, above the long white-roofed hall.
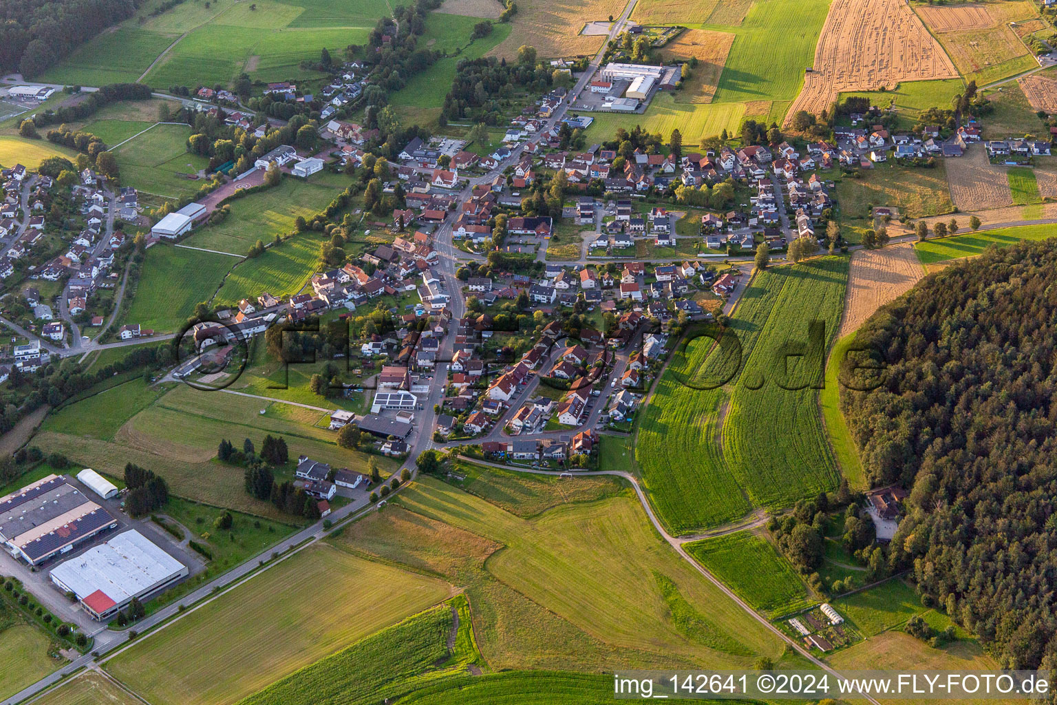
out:
{"label": "rounded green meadow ringed by trees, above the long white-roofed hall", "polygon": [[187,177],[207,167],[209,161],[187,151],[189,136],[189,126],[155,125],[123,144],[114,150],[122,182],[147,193],[173,199],[198,193],[205,182]]}

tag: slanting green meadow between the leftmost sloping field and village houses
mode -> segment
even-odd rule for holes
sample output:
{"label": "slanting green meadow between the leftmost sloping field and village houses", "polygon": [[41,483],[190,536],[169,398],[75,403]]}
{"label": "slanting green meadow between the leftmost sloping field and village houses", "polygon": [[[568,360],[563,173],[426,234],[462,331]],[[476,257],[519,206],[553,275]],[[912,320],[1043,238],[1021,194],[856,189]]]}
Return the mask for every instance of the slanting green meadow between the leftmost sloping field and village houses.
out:
{"label": "slanting green meadow between the leftmost sloping field and village houses", "polygon": [[244,260],[224,280],[216,303],[237,304],[264,292],[279,298],[296,294],[319,268],[319,247],[328,240],[321,233],[310,230]]}

